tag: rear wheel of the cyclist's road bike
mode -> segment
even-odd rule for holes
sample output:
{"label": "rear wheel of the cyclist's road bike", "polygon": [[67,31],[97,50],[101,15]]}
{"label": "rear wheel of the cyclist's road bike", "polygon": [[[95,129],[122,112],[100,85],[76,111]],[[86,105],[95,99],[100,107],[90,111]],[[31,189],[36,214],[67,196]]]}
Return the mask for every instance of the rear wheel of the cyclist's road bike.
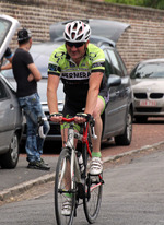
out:
{"label": "rear wheel of the cyclist's road bike", "polygon": [[[86,144],[83,145],[82,152],[83,154],[85,153],[85,155],[87,154]],[[84,161],[86,161],[85,165],[87,167],[87,156],[84,157]],[[101,176],[103,176],[103,174]],[[90,224],[95,222],[101,210],[103,185],[94,189],[96,183],[102,181],[101,176],[91,176],[87,169],[85,169],[85,198],[83,199],[83,208],[85,217]]]}

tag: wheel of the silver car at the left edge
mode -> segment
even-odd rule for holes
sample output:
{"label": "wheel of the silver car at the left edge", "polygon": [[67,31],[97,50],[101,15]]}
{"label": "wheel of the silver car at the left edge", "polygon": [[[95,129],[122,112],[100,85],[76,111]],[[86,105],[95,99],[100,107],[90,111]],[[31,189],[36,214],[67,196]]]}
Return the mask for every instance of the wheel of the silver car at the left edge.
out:
{"label": "wheel of the silver car at the left edge", "polygon": [[13,134],[9,151],[0,155],[1,168],[15,168],[19,161],[19,137]]}

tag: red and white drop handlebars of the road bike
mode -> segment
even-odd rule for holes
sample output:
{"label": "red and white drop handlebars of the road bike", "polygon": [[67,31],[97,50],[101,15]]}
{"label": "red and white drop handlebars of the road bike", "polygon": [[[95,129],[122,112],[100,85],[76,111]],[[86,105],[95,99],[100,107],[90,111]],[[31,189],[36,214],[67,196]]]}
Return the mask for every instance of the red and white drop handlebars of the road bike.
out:
{"label": "red and white drop handlebars of the road bike", "polygon": [[[38,117],[38,134],[43,139],[46,138],[46,135],[44,134],[44,128],[43,128],[44,121],[49,121],[49,120],[50,120],[49,117],[48,118],[47,117],[44,117],[44,118]],[[73,122],[74,121],[74,117],[72,117],[72,118],[65,118],[65,117],[62,117],[61,121],[62,122]],[[91,117],[90,121],[87,121],[87,122],[90,122],[92,138],[93,139],[97,139],[97,135],[95,134],[95,130],[94,130],[94,125],[95,125],[94,118]]]}

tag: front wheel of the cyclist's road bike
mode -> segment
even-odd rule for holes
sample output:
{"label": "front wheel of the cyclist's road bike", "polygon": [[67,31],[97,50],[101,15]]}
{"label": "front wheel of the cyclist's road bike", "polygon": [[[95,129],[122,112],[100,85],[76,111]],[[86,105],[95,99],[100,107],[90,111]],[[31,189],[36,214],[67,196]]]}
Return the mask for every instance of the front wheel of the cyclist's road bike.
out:
{"label": "front wheel of the cyclist's road bike", "polygon": [[[56,167],[56,178],[55,178],[55,215],[57,225],[71,225],[74,217],[75,211],[75,182],[73,185],[73,190],[71,190],[67,186],[66,177],[70,176],[70,162],[71,162],[71,154],[70,149],[65,147],[62,149],[57,167]],[[73,171],[74,174],[74,171]],[[66,176],[65,176],[66,175]],[[71,214],[68,216],[61,214],[62,203],[66,200],[66,194],[71,194],[72,198],[72,210]]]}

